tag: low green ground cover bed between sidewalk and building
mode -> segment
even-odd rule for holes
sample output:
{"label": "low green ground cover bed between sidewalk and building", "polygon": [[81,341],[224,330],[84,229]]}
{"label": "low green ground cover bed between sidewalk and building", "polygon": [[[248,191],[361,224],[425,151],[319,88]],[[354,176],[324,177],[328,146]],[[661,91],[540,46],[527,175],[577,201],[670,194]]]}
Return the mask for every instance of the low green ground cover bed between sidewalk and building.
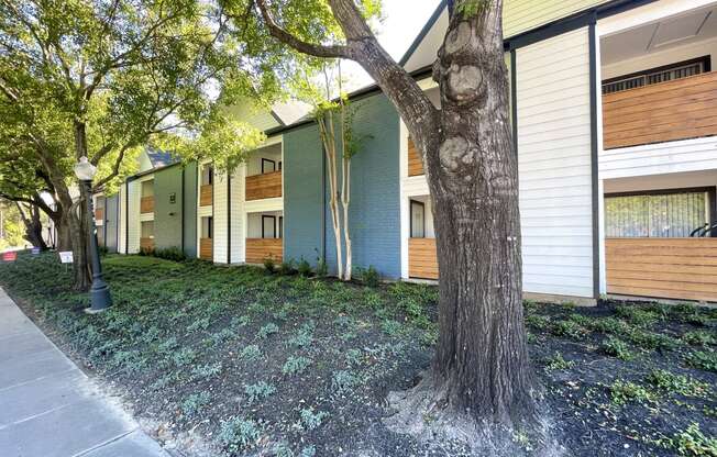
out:
{"label": "low green ground cover bed between sidewalk and building", "polygon": [[[53,254],[0,264],[2,285],[60,347],[188,455],[460,456],[382,422],[435,344],[437,291],[307,271],[104,257],[114,306]],[[278,271],[284,271],[285,275]],[[526,303],[543,414],[567,455],[717,455],[717,311]],[[430,417],[426,417],[429,420]],[[534,443],[516,435],[526,455]]]}

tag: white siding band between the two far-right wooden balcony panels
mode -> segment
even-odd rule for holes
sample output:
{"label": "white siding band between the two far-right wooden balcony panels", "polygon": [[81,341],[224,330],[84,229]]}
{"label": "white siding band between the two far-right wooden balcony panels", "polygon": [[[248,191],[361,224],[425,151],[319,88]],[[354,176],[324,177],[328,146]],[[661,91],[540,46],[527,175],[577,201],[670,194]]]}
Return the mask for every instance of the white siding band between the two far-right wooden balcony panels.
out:
{"label": "white siding band between the two far-right wooden balcony panels", "polygon": [[717,137],[603,151],[600,179],[717,169]]}

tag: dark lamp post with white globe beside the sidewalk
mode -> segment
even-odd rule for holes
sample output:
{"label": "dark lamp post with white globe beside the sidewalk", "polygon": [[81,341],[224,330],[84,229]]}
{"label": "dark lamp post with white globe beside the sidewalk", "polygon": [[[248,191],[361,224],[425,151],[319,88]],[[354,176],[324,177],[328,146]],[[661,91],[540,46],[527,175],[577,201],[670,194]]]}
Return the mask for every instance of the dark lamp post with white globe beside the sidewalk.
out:
{"label": "dark lamp post with white globe beside the sidewalk", "polygon": [[112,297],[110,296],[110,288],[102,278],[102,266],[100,265],[100,252],[97,243],[97,226],[95,225],[93,205],[92,205],[92,179],[97,174],[97,167],[82,156],[79,163],[75,165],[75,176],[79,179],[80,183],[85,186],[87,194],[87,216],[90,219],[90,257],[92,260],[92,287],[90,288],[90,308],[86,309],[86,313],[95,314],[107,310],[112,305]]}

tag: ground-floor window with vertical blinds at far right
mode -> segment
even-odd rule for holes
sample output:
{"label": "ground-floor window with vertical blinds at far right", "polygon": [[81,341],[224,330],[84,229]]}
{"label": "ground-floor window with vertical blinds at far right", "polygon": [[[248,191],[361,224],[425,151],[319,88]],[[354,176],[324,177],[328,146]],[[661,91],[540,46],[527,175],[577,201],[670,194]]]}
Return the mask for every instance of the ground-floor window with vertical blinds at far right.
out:
{"label": "ground-floor window with vertical blinds at far right", "polygon": [[705,189],[606,196],[605,235],[687,237],[692,231],[709,222],[712,192]]}

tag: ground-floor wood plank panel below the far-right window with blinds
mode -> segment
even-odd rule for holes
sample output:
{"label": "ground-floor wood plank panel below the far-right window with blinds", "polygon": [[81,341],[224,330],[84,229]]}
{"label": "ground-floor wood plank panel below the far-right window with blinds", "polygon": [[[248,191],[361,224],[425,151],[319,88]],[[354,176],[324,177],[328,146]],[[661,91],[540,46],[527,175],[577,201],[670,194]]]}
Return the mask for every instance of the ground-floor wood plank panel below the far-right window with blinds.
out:
{"label": "ground-floor wood plank panel below the far-right window with blinds", "polygon": [[717,238],[607,238],[608,293],[717,301]]}

